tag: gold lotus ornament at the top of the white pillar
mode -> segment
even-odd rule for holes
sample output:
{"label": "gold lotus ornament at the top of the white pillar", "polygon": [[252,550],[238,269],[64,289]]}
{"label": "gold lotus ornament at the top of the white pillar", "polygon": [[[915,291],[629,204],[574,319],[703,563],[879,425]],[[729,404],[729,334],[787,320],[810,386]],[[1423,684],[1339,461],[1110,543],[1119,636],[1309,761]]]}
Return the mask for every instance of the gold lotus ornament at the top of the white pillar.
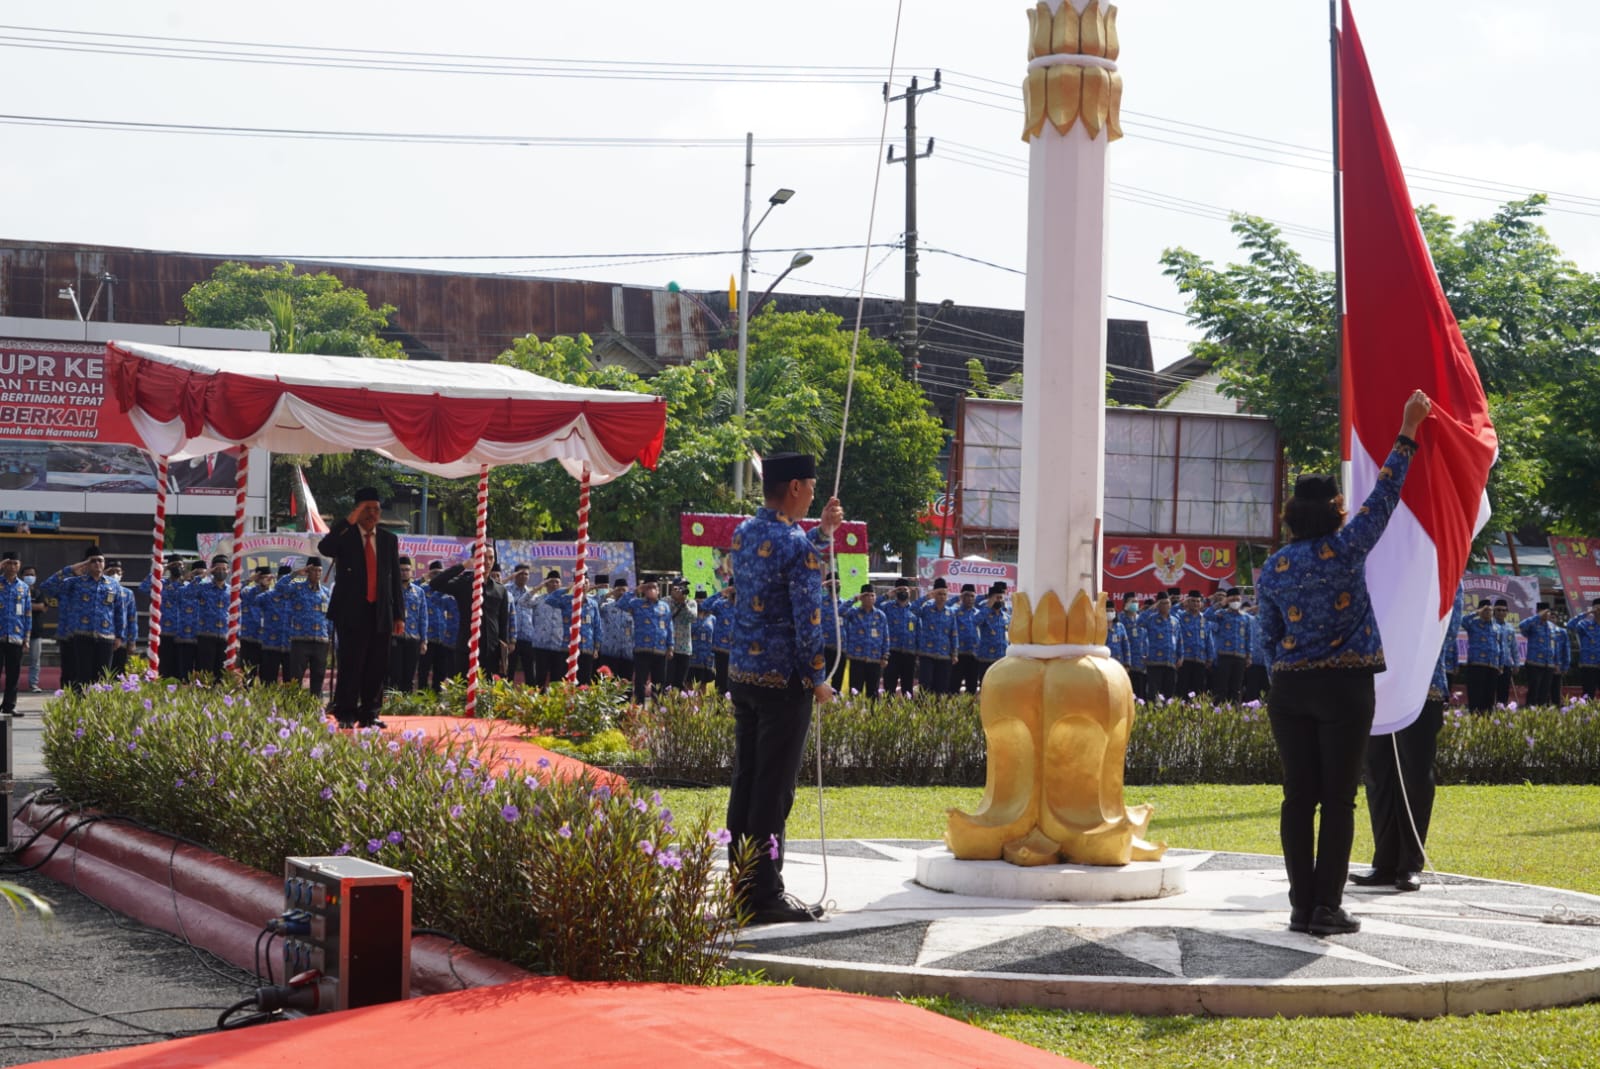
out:
{"label": "gold lotus ornament at the top of the white pillar", "polygon": [[[1082,118],[1090,139],[1106,131],[1107,141],[1122,138],[1122,74],[1115,70],[1122,45],[1117,40],[1117,5],[1099,0],[1080,13],[1072,0],[1061,0],[1051,13],[1040,0],[1027,13],[1027,78],[1022,80],[1022,141],[1045,130],[1045,118],[1066,134]],[[1032,66],[1048,56],[1086,56],[1098,62],[1056,61]]]}

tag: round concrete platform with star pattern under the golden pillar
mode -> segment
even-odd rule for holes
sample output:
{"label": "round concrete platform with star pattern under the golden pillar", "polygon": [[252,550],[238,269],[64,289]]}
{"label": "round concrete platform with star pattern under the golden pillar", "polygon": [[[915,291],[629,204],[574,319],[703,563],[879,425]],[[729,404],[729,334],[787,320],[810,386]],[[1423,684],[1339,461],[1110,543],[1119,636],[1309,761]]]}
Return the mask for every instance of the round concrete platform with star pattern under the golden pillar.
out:
{"label": "round concrete platform with star pattern under the golden pillar", "polygon": [[1413,893],[1350,887],[1362,931],[1315,938],[1288,931],[1277,856],[1171,850],[1184,893],[1064,903],[917,883],[942,853],[829,842],[824,895],[821,843],[789,842],[789,890],[829,914],[746,930],[736,962],[867,994],[1146,1015],[1426,1018],[1600,997],[1600,896],[1448,874]]}

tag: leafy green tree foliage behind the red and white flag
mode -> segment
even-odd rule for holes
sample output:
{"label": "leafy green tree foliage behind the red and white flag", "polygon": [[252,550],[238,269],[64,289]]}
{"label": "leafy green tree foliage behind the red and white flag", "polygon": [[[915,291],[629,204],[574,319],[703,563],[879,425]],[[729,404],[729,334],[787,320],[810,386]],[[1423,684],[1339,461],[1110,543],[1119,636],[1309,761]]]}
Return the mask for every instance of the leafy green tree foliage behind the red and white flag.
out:
{"label": "leafy green tree foliage behind the red and white flag", "polygon": [[[1483,379],[1499,434],[1490,502],[1499,530],[1600,525],[1600,275],[1579,270],[1538,226],[1544,197],[1462,229],[1418,210],[1440,285]],[[1222,392],[1270,416],[1293,467],[1338,458],[1333,272],[1304,262],[1277,227],[1234,222],[1243,264],[1174,248],[1166,274],[1205,330]]]}

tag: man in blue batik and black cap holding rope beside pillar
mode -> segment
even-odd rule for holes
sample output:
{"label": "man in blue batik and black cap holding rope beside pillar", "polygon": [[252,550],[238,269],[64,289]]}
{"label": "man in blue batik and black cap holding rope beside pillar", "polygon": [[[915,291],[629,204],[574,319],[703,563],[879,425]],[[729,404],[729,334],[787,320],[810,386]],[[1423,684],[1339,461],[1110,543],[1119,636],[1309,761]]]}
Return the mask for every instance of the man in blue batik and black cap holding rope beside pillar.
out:
{"label": "man in blue batik and black cap holding rope beside pillar", "polygon": [[822,555],[845,518],[837,498],[805,534],[797,520],[816,493],[816,459],[768,456],[762,470],[766,504],[733,533],[730,565],[739,584],[733,655],[733,786],[728,792],[730,850],[754,848],[755,864],[739,888],[750,923],[814,920],[819,911],[784,893],[784,824],[811,725],[811,703],[829,703],[822,663]]}

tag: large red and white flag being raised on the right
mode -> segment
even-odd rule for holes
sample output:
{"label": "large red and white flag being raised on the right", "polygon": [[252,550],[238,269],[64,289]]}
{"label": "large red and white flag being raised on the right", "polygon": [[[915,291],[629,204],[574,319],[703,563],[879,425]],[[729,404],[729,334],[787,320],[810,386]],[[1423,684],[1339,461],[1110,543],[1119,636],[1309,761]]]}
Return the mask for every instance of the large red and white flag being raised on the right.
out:
{"label": "large red and white flag being raised on the right", "polygon": [[1490,518],[1499,450],[1477,365],[1438,285],[1389,138],[1366,53],[1342,0],[1339,170],[1344,206],[1346,501],[1365,501],[1411,390],[1434,398],[1400,507],[1366,559],[1384,640],[1373,735],[1422,711],[1472,539]]}

